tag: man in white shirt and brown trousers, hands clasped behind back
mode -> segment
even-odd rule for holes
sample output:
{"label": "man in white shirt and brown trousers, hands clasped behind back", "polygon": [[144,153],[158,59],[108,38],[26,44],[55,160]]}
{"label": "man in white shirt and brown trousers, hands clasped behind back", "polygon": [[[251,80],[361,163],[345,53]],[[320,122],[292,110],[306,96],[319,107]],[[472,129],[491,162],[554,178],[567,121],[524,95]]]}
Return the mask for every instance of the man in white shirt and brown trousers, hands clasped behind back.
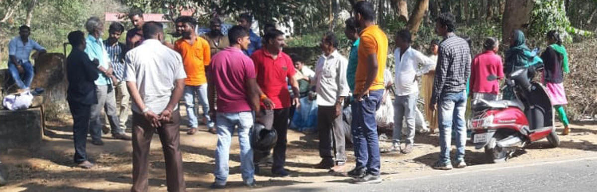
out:
{"label": "man in white shirt and brown trousers, hands clasped behind back", "polygon": [[156,129],[164,148],[168,191],[184,191],[178,103],[186,73],[180,54],[162,45],[162,24],[146,22],[143,36],[143,43],[125,57],[125,79],[134,101],[131,191],[148,190],[149,144]]}

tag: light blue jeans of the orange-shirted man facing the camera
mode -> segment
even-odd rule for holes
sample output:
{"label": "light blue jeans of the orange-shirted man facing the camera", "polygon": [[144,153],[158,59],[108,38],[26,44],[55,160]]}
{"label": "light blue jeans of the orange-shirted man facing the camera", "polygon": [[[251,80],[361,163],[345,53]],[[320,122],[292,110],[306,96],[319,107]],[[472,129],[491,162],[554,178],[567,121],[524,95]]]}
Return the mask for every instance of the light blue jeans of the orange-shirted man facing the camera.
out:
{"label": "light blue jeans of the orange-shirted man facing the camera", "polygon": [[207,127],[213,128],[214,123],[211,121],[208,112],[210,112],[210,104],[207,100],[207,84],[198,86],[184,86],[184,104],[187,109],[187,117],[189,117],[190,128],[197,128],[199,123],[195,115],[195,97],[198,97],[199,104],[203,106],[203,117],[207,119]]}

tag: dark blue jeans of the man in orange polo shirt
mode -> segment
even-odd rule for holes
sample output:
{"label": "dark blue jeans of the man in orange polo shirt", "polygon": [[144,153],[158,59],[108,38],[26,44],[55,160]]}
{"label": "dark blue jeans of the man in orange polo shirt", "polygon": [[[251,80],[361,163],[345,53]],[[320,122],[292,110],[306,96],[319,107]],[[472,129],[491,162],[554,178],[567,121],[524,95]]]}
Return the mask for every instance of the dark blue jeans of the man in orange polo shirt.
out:
{"label": "dark blue jeans of the man in orange polo shirt", "polygon": [[380,174],[379,140],[375,114],[381,104],[383,89],[369,91],[363,101],[352,102],[353,145],[355,147],[356,169],[367,168],[371,175]]}

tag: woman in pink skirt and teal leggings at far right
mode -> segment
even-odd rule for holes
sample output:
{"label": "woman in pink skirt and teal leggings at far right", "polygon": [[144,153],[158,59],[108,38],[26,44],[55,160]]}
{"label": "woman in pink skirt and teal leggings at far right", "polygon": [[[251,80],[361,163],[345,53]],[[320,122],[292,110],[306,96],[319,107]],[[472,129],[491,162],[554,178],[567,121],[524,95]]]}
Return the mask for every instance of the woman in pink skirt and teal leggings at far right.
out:
{"label": "woman in pink skirt and teal leggings at far right", "polygon": [[541,54],[541,59],[545,63],[543,84],[547,88],[547,94],[552,100],[553,107],[555,107],[560,120],[564,123],[562,135],[568,135],[570,129],[568,128],[568,117],[564,111],[564,105],[568,104],[566,92],[564,91],[564,73],[570,72],[568,69],[568,53],[566,48],[562,46],[562,39],[555,30],[547,32],[547,44],[549,46]]}

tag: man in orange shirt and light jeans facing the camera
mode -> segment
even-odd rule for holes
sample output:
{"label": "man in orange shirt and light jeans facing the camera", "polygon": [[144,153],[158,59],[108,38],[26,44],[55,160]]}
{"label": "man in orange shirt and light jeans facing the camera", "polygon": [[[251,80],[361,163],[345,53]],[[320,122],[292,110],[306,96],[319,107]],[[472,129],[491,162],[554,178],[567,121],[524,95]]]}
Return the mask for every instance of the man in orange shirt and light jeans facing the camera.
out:
{"label": "man in orange shirt and light jeans facing the camera", "polygon": [[184,103],[186,104],[187,116],[189,117],[189,131],[193,135],[199,126],[195,116],[195,97],[203,106],[203,117],[207,120],[208,131],[216,134],[214,123],[211,121],[208,112],[210,104],[207,100],[207,78],[205,70],[210,64],[210,44],[207,40],[200,38],[195,33],[197,21],[193,17],[181,16],[176,19],[176,31],[182,38],[174,42],[174,50],[180,53],[183,58],[184,72],[187,78],[184,79]]}

